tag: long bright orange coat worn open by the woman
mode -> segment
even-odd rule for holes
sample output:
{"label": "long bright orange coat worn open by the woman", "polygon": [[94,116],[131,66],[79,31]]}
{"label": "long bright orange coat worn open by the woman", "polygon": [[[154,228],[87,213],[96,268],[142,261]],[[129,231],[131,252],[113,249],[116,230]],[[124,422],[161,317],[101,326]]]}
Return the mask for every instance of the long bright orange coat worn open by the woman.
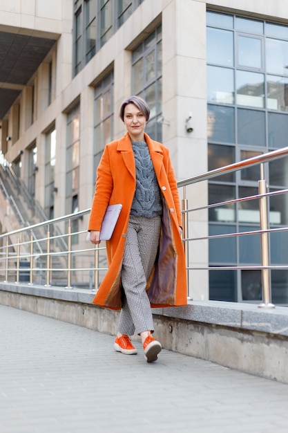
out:
{"label": "long bright orange coat worn open by the woman", "polygon": [[[160,142],[151,140],[146,133],[144,136],[163,199],[159,253],[146,291],[152,307],[186,305],[186,265],[179,230],[182,219],[169,149]],[[108,271],[93,299],[94,304],[114,310],[122,308],[122,259],[135,186],[134,154],[130,137],[126,133],[104,149],[97,168],[95,195],[88,224],[88,230],[99,231],[107,205],[122,203],[113,235],[106,241]]]}

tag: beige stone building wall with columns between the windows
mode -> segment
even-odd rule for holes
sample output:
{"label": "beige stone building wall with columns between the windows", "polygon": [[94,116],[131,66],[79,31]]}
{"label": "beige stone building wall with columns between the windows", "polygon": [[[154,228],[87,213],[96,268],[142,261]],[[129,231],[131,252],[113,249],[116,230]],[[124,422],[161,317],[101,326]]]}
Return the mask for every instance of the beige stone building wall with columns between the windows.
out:
{"label": "beige stone building wall with columns between the windows", "polygon": [[[3,3],[3,2],[1,2]],[[267,18],[287,23],[286,0],[144,0],[117,33],[73,78],[73,2],[69,0],[15,1],[0,3],[0,29],[11,28],[35,35],[58,34],[59,39],[44,64],[16,104],[21,106],[19,140],[8,145],[6,158],[19,158],[21,177],[27,179],[28,149],[36,141],[36,199],[44,207],[44,149],[46,131],[55,125],[57,156],[55,166],[55,217],[65,214],[66,199],[66,114],[80,102],[80,187],[79,210],[90,208],[95,173],[93,172],[93,100],[94,86],[106,72],[114,71],[114,138],[122,136],[124,126],[117,113],[119,104],[131,93],[131,50],[157,25],[162,24],[162,115],[169,125],[162,125],[164,144],[171,151],[177,179],[207,171],[207,86],[206,86],[206,11],[207,7],[224,12],[238,12],[249,17]],[[24,7],[25,3],[25,7]],[[233,8],[232,8],[233,6]],[[6,27],[7,28],[7,27]],[[52,102],[47,104],[48,63],[52,62]],[[31,86],[35,85],[35,121],[29,125]],[[193,132],[188,133],[185,120],[192,116]],[[8,125],[15,125],[15,107],[7,115]],[[19,126],[19,125],[18,125]],[[8,131],[9,133],[9,131]],[[180,192],[182,194],[182,192]],[[189,191],[189,203],[207,204],[207,185]],[[87,219],[80,221],[85,230]],[[206,236],[207,212],[198,212],[189,223],[190,236]],[[195,250],[197,254],[195,254]],[[190,251],[193,264],[207,266],[207,242],[201,241]],[[206,271],[191,275],[190,290],[195,299],[209,296]]]}

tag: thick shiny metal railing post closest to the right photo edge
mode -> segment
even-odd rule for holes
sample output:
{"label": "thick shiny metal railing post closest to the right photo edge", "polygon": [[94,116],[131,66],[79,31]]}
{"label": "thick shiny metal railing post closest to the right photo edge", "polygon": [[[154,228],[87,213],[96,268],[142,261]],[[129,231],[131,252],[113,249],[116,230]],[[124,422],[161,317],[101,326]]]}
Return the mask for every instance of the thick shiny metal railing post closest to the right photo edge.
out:
{"label": "thick shiny metal railing post closest to the right photo edge", "polygon": [[[259,198],[260,230],[268,230],[268,208],[267,208],[267,185],[264,178],[264,165],[260,164],[261,179],[258,181],[258,191],[262,196]],[[268,232],[262,232],[261,237],[261,264],[267,268],[261,270],[262,276],[262,304],[259,308],[275,308],[271,303],[271,286],[269,271],[269,239]]]}

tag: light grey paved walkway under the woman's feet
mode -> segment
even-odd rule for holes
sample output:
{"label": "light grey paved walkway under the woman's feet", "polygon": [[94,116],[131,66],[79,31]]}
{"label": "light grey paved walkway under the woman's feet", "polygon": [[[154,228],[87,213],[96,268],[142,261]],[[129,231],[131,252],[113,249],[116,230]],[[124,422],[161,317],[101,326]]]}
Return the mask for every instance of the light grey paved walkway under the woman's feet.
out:
{"label": "light grey paved walkway under the woman's feet", "polygon": [[288,431],[288,385],[0,305],[1,433]]}

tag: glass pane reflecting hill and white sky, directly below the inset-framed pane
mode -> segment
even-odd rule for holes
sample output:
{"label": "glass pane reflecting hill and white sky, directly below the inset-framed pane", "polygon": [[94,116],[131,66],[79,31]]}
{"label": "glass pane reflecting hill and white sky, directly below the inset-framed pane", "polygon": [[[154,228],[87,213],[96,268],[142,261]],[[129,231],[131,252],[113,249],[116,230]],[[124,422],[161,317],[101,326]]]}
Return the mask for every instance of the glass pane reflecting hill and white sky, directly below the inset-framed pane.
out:
{"label": "glass pane reflecting hill and white sky, directly below the inset-framed pane", "polygon": [[238,105],[264,108],[265,86],[264,74],[237,71],[236,72],[236,101]]}

